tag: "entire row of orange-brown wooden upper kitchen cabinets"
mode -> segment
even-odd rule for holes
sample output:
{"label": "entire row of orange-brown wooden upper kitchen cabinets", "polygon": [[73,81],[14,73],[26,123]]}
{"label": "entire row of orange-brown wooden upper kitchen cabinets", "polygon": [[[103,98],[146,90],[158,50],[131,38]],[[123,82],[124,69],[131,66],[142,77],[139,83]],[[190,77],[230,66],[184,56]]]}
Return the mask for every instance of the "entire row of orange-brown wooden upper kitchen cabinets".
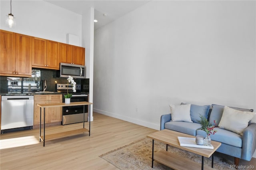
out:
{"label": "entire row of orange-brown wooden upper kitchen cabinets", "polygon": [[32,67],[60,69],[85,65],[85,48],[0,30],[0,75],[31,77]]}

